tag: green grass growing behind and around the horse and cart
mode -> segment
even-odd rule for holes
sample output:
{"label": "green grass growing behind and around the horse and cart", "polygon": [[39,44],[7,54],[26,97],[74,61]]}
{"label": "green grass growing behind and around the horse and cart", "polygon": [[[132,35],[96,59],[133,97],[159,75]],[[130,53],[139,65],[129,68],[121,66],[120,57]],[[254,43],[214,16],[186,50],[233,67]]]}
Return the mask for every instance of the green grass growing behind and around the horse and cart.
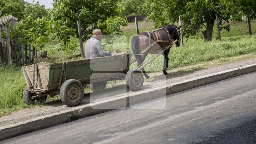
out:
{"label": "green grass growing behind and around the horse and cart", "polygon": [[[139,32],[154,30],[154,23],[139,22]],[[112,49],[119,50],[119,52],[131,51],[130,38],[135,35],[135,24],[129,23],[127,27],[122,27],[121,30],[125,36],[124,39],[117,39]],[[217,37],[217,30],[214,27],[213,41],[204,43],[203,39],[197,40],[196,37],[184,40],[184,47],[173,46],[169,53],[169,69],[180,68],[188,65],[196,65],[212,60],[220,60],[226,62],[226,58],[235,57],[238,55],[255,54],[256,53],[256,36],[249,37],[244,23],[237,23],[231,26],[230,32],[222,31],[222,41],[219,42]],[[256,32],[256,23],[252,22],[253,34]],[[78,39],[76,41],[79,42]],[[102,41],[102,44],[106,41]],[[84,43],[85,44],[85,43]],[[80,47],[76,48],[75,52],[65,53],[63,58],[62,52],[55,50],[58,47],[56,43],[49,43],[44,50],[47,50],[48,57],[45,59],[38,59],[38,62],[63,62],[70,60],[84,59],[80,54]],[[128,48],[127,48],[128,47]],[[111,49],[108,44],[106,50]],[[148,59],[152,55],[148,55]],[[161,71],[164,58],[160,55],[153,62],[145,67],[149,73]],[[222,60],[222,61],[221,61]],[[136,63],[132,64],[130,68],[135,68]],[[182,72],[182,71],[181,71]],[[183,71],[184,72],[184,71]],[[111,82],[109,82],[111,83]],[[22,93],[26,86],[25,78],[20,67],[13,65],[0,65],[0,116],[21,110],[22,108],[31,108],[34,106],[27,106],[23,101]],[[88,91],[89,88],[85,87]],[[59,96],[48,97],[47,103],[59,103]],[[41,106],[41,105],[36,105]]]}

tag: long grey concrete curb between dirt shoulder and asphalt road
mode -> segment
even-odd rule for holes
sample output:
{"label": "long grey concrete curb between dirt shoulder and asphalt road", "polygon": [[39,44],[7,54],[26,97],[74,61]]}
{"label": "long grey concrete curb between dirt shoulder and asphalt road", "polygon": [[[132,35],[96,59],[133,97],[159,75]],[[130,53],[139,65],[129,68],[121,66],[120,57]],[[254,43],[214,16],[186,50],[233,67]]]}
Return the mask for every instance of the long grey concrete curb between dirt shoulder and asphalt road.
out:
{"label": "long grey concrete curb between dirt shoulder and asphalt road", "polygon": [[15,137],[17,135],[33,132],[39,129],[53,127],[59,124],[73,121],[74,119],[92,116],[94,114],[123,108],[136,103],[153,100],[162,96],[176,92],[192,89],[194,87],[206,85],[212,82],[232,78],[242,74],[256,71],[256,64],[242,66],[240,68],[230,69],[214,74],[200,76],[198,78],[176,82],[168,86],[162,86],[155,89],[144,90],[143,92],[134,92],[129,96],[124,95],[103,102],[96,102],[89,105],[83,105],[71,110],[48,114],[27,121],[10,124],[0,127],[0,140]]}

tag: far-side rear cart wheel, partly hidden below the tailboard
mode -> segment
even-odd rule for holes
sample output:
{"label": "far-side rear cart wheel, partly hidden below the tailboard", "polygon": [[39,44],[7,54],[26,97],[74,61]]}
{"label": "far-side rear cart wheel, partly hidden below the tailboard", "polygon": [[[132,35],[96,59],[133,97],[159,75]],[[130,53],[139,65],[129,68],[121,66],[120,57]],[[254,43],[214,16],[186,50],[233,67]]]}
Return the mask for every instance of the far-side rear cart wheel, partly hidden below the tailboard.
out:
{"label": "far-side rear cart wheel, partly hidden below the tailboard", "polygon": [[34,96],[33,92],[26,92],[28,90],[28,86],[25,87],[23,91],[23,99],[27,105],[35,105],[37,103],[44,103],[46,102],[47,96],[38,97],[36,99],[32,99],[31,97]]}

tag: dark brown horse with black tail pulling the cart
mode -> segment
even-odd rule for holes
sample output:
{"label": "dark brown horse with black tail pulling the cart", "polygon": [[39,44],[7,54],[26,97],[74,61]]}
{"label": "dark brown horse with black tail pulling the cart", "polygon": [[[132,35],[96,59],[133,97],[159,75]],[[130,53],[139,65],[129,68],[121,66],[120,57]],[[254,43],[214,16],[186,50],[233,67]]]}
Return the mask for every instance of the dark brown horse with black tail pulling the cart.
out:
{"label": "dark brown horse with black tail pulling the cart", "polygon": [[[180,28],[174,25],[164,26],[152,32],[142,32],[139,33],[137,36],[132,37],[131,45],[134,57],[136,58],[138,64],[137,66],[141,65],[148,53],[155,54],[158,50],[163,49],[169,46],[175,40],[176,47],[180,46]],[[151,46],[150,46],[151,45]],[[162,55],[164,56],[164,66],[163,66],[163,73],[167,74],[168,68],[168,54],[170,49],[165,50]],[[144,69],[142,69],[146,78],[150,78]]]}

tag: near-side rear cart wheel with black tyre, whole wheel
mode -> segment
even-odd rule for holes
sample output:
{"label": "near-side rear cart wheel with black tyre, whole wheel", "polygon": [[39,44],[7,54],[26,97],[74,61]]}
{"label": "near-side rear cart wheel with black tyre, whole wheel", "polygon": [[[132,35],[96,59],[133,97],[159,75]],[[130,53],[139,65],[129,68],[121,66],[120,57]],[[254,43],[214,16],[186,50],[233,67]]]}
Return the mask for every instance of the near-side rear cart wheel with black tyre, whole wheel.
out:
{"label": "near-side rear cart wheel with black tyre, whole wheel", "polygon": [[77,106],[84,98],[84,87],[78,80],[66,80],[60,87],[60,99],[67,106]]}

